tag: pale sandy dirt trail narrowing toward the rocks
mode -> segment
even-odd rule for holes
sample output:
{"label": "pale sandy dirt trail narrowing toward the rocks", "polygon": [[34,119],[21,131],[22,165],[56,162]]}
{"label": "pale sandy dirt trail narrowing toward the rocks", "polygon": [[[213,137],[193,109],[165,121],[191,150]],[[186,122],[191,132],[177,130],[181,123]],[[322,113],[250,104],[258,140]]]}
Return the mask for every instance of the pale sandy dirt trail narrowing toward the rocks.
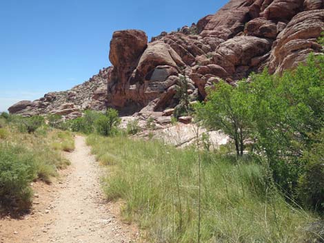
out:
{"label": "pale sandy dirt trail narrowing toward the rocks", "polygon": [[34,217],[1,220],[0,242],[132,242],[136,230],[116,218],[117,205],[104,202],[99,166],[85,138],[77,136],[75,147],[66,155],[72,163],[70,173],[56,185],[52,200],[40,195],[39,201],[46,201],[45,208],[33,213]]}

